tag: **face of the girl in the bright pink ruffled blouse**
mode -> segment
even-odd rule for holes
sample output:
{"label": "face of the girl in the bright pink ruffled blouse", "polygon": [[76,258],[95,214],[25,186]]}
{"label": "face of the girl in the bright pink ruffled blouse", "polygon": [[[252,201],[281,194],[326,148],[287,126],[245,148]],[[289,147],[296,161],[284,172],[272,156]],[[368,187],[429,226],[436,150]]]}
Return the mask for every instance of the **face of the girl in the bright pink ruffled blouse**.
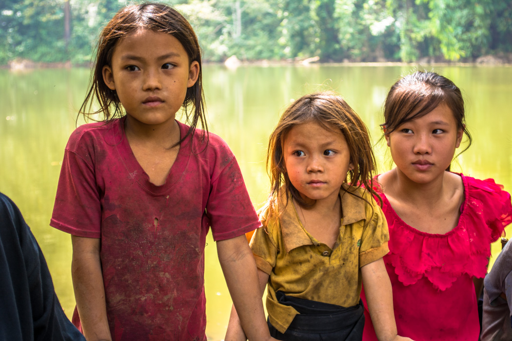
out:
{"label": "face of the girl in the bright pink ruffled blouse", "polygon": [[442,103],[385,136],[397,171],[416,183],[427,184],[450,166],[462,134],[452,110]]}

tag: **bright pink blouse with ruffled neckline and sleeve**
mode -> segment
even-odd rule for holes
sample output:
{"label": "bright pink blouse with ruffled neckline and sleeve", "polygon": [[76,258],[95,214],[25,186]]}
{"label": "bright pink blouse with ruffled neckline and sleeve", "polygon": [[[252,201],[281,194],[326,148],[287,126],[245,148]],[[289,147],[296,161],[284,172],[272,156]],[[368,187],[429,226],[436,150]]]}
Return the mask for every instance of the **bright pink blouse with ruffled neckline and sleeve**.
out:
{"label": "bright pink blouse with ruffled neckline and sleeve", "polygon": [[[390,253],[384,261],[393,287],[398,335],[415,341],[478,340],[473,277],[485,276],[489,244],[512,222],[510,194],[501,185],[493,179],[460,176],[465,199],[459,223],[444,235],[409,226],[379,192],[389,225]],[[362,339],[377,340],[364,291],[361,298],[366,318]]]}

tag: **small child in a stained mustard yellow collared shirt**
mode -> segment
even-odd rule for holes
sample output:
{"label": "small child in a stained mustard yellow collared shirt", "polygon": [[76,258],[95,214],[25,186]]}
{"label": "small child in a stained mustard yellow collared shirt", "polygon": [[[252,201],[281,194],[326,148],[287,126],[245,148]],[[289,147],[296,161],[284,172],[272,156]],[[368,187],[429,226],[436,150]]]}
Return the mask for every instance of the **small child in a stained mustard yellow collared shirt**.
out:
{"label": "small child in a stained mustard yellow collared shirt", "polygon": [[[361,282],[380,340],[397,335],[382,261],[388,226],[372,197],[365,124],[332,93],[301,97],[270,135],[271,193],[251,249],[267,291],[268,326],[280,340],[361,340]],[[226,340],[246,337],[233,309]]]}

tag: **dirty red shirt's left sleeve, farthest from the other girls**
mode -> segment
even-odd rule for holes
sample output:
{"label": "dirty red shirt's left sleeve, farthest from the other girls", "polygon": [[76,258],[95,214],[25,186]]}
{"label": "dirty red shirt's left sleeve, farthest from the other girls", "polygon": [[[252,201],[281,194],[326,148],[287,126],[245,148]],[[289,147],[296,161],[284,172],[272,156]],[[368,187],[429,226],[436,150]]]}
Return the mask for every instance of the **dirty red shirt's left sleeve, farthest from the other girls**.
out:
{"label": "dirty red shirt's left sleeve, farthest from the other girls", "polygon": [[94,144],[77,135],[75,130],[64,153],[50,225],[75,236],[100,238],[101,203]]}

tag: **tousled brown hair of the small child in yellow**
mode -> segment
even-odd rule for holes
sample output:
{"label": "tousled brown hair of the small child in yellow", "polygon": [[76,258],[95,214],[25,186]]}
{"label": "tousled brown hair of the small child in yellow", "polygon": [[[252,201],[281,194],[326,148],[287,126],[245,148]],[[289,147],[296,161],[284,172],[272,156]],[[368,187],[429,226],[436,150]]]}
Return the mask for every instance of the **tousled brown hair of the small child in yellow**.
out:
{"label": "tousled brown hair of the small child in yellow", "polygon": [[[270,209],[275,212],[282,185],[298,204],[303,207],[310,206],[291,184],[283,155],[284,140],[290,129],[308,122],[315,122],[326,129],[336,127],[341,130],[349,147],[350,162],[354,165],[345,182],[355,188],[364,186],[365,190],[377,194],[372,186],[376,163],[368,128],[343,97],[333,92],[317,92],[304,95],[291,103],[270,134],[267,150]],[[348,193],[355,195],[353,192]],[[380,199],[378,195],[377,198]]]}

